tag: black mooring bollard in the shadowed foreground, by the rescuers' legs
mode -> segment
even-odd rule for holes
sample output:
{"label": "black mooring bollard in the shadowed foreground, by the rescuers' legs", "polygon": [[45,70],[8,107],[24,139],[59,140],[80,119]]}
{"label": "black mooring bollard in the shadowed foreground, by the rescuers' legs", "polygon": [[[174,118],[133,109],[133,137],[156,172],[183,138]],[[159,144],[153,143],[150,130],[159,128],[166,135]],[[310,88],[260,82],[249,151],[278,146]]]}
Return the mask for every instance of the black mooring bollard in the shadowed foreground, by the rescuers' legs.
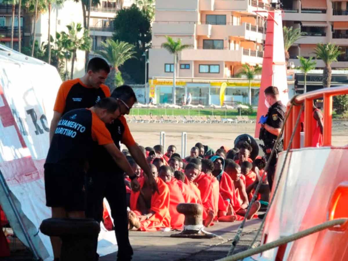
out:
{"label": "black mooring bollard in the shadowed foreground, by the rescuers' legs", "polygon": [[94,261],[96,238],[100,225],[94,219],[48,218],[42,221],[40,231],[50,237],[60,237],[60,261]]}

